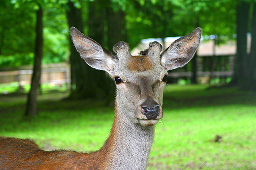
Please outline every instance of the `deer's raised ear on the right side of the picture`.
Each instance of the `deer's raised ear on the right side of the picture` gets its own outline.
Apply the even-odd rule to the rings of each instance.
[[[202,30],[196,28],[188,35],[174,41],[160,56],[160,63],[165,70],[172,70],[187,64],[200,43]]]

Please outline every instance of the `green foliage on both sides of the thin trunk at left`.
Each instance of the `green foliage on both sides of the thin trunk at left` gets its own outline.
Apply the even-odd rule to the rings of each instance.
[[[51,0],[44,2],[42,63],[63,62],[68,59],[69,28],[62,3]],[[12,0],[0,4],[0,15],[4,16],[0,18],[0,67],[33,63],[36,10],[35,1]]]

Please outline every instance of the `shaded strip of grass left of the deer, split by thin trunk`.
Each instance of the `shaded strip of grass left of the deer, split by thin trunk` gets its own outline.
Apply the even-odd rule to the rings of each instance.
[[[85,110],[97,107],[104,107],[105,100],[83,99],[69,100],[66,99],[68,92],[49,92],[37,95],[38,111],[62,111],[62,110]],[[27,102],[27,94],[25,93],[9,93],[0,94],[0,113],[2,110],[20,110],[25,107]],[[110,105],[112,106],[112,105]],[[20,110],[21,111],[21,110]],[[22,112],[22,111],[21,111]]]

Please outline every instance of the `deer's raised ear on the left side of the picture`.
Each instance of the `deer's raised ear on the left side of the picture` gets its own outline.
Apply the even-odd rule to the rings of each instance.
[[[109,51],[102,48],[95,40],[85,36],[74,27],[70,28],[70,34],[80,57],[88,65],[98,70],[104,70],[109,74],[113,71],[115,59]]]

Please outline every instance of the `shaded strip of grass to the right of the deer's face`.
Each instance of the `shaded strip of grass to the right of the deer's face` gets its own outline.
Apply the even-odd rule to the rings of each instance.
[[[256,106],[256,92],[240,91],[236,87],[193,88],[189,85],[168,89],[164,93],[163,108],[179,109],[192,107],[214,107],[223,105],[253,105]]]

